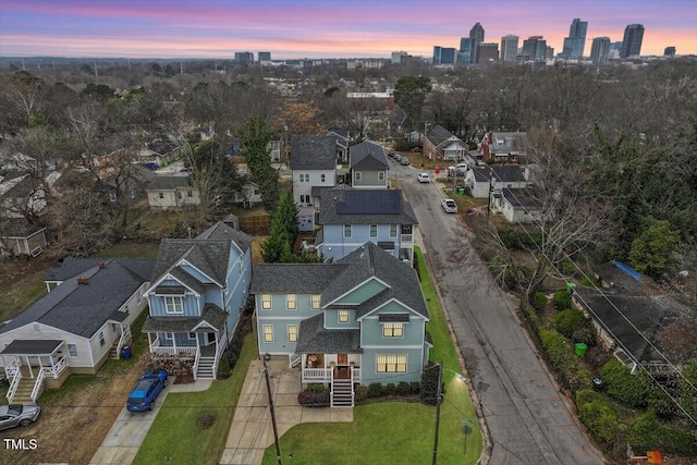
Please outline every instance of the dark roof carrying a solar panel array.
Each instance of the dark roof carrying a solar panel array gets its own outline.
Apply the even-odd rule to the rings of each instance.
[[[321,193],[319,224],[416,224],[399,189],[332,188]]]

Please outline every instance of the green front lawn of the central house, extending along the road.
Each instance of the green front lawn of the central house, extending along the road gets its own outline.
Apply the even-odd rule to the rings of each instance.
[[[421,270],[421,291],[431,316],[427,325],[435,345],[430,358],[442,362],[445,368],[438,463],[474,464],[481,453],[481,433],[467,387],[453,372],[461,371],[457,356],[424,256],[418,247],[415,252]],[[435,420],[436,407],[423,404],[382,402],[359,405],[354,408],[352,424],[293,427],[281,438],[281,454],[284,464],[430,463]],[[463,420],[472,421],[469,435],[462,432]],[[271,445],[266,450],[264,464],[274,463],[276,448]]]

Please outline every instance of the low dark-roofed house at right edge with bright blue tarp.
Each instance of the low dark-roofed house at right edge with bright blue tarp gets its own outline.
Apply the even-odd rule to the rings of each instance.
[[[603,346],[636,372],[641,365],[670,376],[694,356],[697,316],[648,278],[611,261],[594,268],[601,287],[574,287],[574,304],[599,332]],[[667,360],[668,358],[668,360]]]

